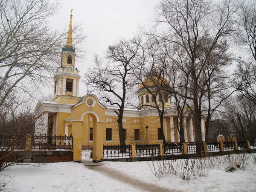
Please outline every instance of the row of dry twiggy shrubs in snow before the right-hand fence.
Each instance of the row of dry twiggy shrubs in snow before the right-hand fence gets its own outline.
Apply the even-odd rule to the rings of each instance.
[[[151,161],[148,162],[148,165],[158,179],[175,175],[182,180],[192,180],[198,177],[207,177],[210,169],[221,169],[227,172],[234,172],[237,169],[244,170],[248,166],[249,157],[248,154],[228,154],[198,159]],[[253,157],[256,162],[255,154]]]

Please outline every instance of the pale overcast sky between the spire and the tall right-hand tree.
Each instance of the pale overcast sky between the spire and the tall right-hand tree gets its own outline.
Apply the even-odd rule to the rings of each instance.
[[[79,96],[87,93],[87,87],[81,80],[87,68],[93,65],[94,54],[103,56],[108,45],[118,38],[132,37],[138,24],[145,25],[153,19],[154,6],[159,2],[160,0],[61,0],[62,7],[51,18],[50,25],[59,30],[68,28],[70,10],[73,8],[73,23],[82,22],[87,36],[86,42],[82,44],[87,55],[84,61],[76,62],[81,76]],[[48,88],[44,96],[50,93],[53,94],[53,89]]]

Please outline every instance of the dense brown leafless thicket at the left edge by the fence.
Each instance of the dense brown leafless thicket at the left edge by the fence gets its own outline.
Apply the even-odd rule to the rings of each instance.
[[[24,149],[27,135],[34,134],[35,116],[29,112],[30,106],[26,104],[26,98],[12,91],[0,106],[0,172],[24,163],[29,157]]]

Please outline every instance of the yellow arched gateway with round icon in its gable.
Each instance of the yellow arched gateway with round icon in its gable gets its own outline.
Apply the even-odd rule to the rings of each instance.
[[[103,122],[105,120],[105,106],[98,98],[88,94],[79,99],[71,107],[73,161],[81,162],[83,118],[89,114],[93,118],[93,162],[101,162],[103,158]]]

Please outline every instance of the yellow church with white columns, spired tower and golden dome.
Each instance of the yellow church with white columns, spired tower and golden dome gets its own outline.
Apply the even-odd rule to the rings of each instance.
[[[94,123],[101,122],[103,127],[103,144],[119,144],[117,115],[118,108],[104,106],[97,96],[87,94],[79,97],[79,83],[81,76],[76,68],[76,50],[72,44],[72,14],[67,36],[67,44],[62,49],[60,67],[54,76],[54,96],[51,101],[39,100],[35,113],[35,134],[47,136],[70,136],[75,133],[76,126],[81,126],[79,137],[81,149],[91,149],[94,142]],[[147,82],[150,83],[150,82]],[[151,95],[141,84],[137,91],[140,104],[150,105]],[[184,127],[186,142],[195,142],[195,126],[190,116],[183,119],[177,117],[177,109],[171,95],[165,99],[164,135],[166,142],[178,143],[180,136],[177,123]],[[86,106],[86,107],[82,107]],[[76,110],[75,110],[76,109]],[[76,117],[79,115],[79,119]],[[101,117],[102,119],[101,119]],[[97,121],[94,121],[96,118]],[[201,119],[202,140],[205,140],[205,122]],[[125,108],[123,116],[123,133],[127,144],[162,143],[160,134],[160,118],[157,109]],[[77,134],[77,132],[76,132]],[[77,136],[77,135],[76,135]]]

